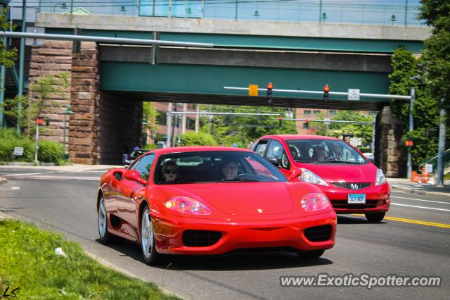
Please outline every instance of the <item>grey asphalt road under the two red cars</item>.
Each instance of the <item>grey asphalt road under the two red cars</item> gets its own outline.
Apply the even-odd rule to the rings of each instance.
[[[49,172],[49,173],[48,173]],[[36,174],[39,173],[39,174]],[[383,223],[338,218],[336,245],[317,260],[294,254],[176,257],[151,267],[131,242],[97,242],[96,188],[103,172],[3,170],[0,211],[63,232],[86,251],[186,299],[448,299],[450,199],[392,192]],[[428,275],[441,287],[281,287],[281,275]]]

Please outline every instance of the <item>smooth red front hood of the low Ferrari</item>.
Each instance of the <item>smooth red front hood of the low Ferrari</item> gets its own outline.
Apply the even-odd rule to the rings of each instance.
[[[271,215],[293,211],[293,199],[284,182],[224,182],[179,186],[229,215]]]

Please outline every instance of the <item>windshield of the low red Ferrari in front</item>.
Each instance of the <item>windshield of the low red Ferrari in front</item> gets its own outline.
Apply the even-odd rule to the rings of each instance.
[[[160,185],[218,182],[285,182],[265,158],[247,151],[197,151],[165,154],[155,165]]]

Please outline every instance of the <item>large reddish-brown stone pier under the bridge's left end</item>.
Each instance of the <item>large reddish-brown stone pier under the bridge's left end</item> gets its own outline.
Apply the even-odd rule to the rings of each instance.
[[[100,63],[94,42],[82,42],[79,53],[72,53],[72,42],[45,41],[32,47],[30,87],[41,76],[68,74],[70,87],[50,94],[41,116],[51,119],[42,138],[61,144],[66,118],[66,153],[72,163],[121,163],[126,147],[141,145],[142,103],[102,92]],[[30,88],[29,96],[33,101],[39,94]],[[69,105],[73,113],[65,115]]]

